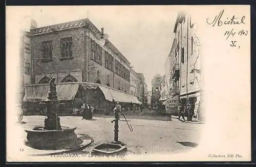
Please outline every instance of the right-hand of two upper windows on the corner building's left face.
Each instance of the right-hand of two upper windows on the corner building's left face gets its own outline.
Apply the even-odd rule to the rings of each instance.
[[[72,57],[72,37],[69,38],[61,38],[61,56],[63,58]]]

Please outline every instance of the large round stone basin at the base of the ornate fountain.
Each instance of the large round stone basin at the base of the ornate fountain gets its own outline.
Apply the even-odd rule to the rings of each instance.
[[[39,150],[61,150],[79,147],[75,130],[77,127],[61,127],[60,130],[44,130],[44,125],[26,129],[27,140],[32,148]]]

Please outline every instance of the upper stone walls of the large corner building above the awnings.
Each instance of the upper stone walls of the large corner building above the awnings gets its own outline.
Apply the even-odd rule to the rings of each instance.
[[[130,93],[130,62],[87,18],[31,30],[32,84],[95,82]]]

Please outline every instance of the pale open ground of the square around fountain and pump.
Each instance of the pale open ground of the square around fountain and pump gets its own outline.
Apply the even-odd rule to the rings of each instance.
[[[132,112],[133,113],[133,112]],[[184,123],[177,118],[151,116],[152,113],[136,111],[125,116],[132,125],[131,132],[124,118],[120,116],[119,141],[126,144],[127,154],[176,153],[195,147],[200,140],[202,124]],[[44,124],[44,116],[25,116],[24,129]],[[82,120],[81,117],[61,116],[61,126],[77,127],[76,134],[87,134],[93,138],[94,143],[83,150],[90,152],[95,145],[114,140],[113,116],[95,115],[93,120]],[[24,132],[26,137],[26,132]]]

